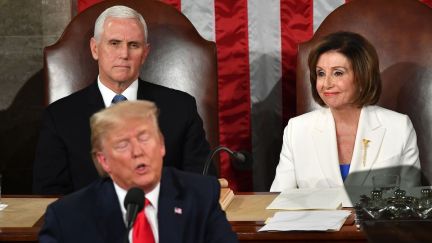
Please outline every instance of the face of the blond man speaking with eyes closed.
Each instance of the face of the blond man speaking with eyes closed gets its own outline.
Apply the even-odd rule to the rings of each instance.
[[[160,181],[165,145],[152,119],[125,118],[103,137],[96,155],[120,187],[149,192]]]

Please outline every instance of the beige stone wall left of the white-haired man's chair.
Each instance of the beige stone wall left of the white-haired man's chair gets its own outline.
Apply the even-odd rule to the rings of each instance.
[[[0,0],[0,110],[42,68],[43,47],[71,19],[71,0]]]

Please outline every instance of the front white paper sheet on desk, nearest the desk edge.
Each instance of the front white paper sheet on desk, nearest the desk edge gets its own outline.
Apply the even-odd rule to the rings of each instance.
[[[277,212],[259,231],[339,231],[350,214],[348,210]]]

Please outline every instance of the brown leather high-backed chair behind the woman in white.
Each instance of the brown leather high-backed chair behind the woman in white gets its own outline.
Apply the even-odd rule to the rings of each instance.
[[[366,37],[380,59],[378,105],[407,114],[417,132],[424,184],[432,182],[432,9],[417,0],[354,0],[332,12],[313,38],[299,46],[297,114],[317,107],[307,58],[317,40],[335,31]]]

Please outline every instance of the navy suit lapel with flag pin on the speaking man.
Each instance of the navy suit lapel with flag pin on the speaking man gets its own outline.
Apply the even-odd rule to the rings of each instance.
[[[159,242],[182,242],[188,209],[184,205],[183,185],[171,169],[165,168],[159,194]]]

